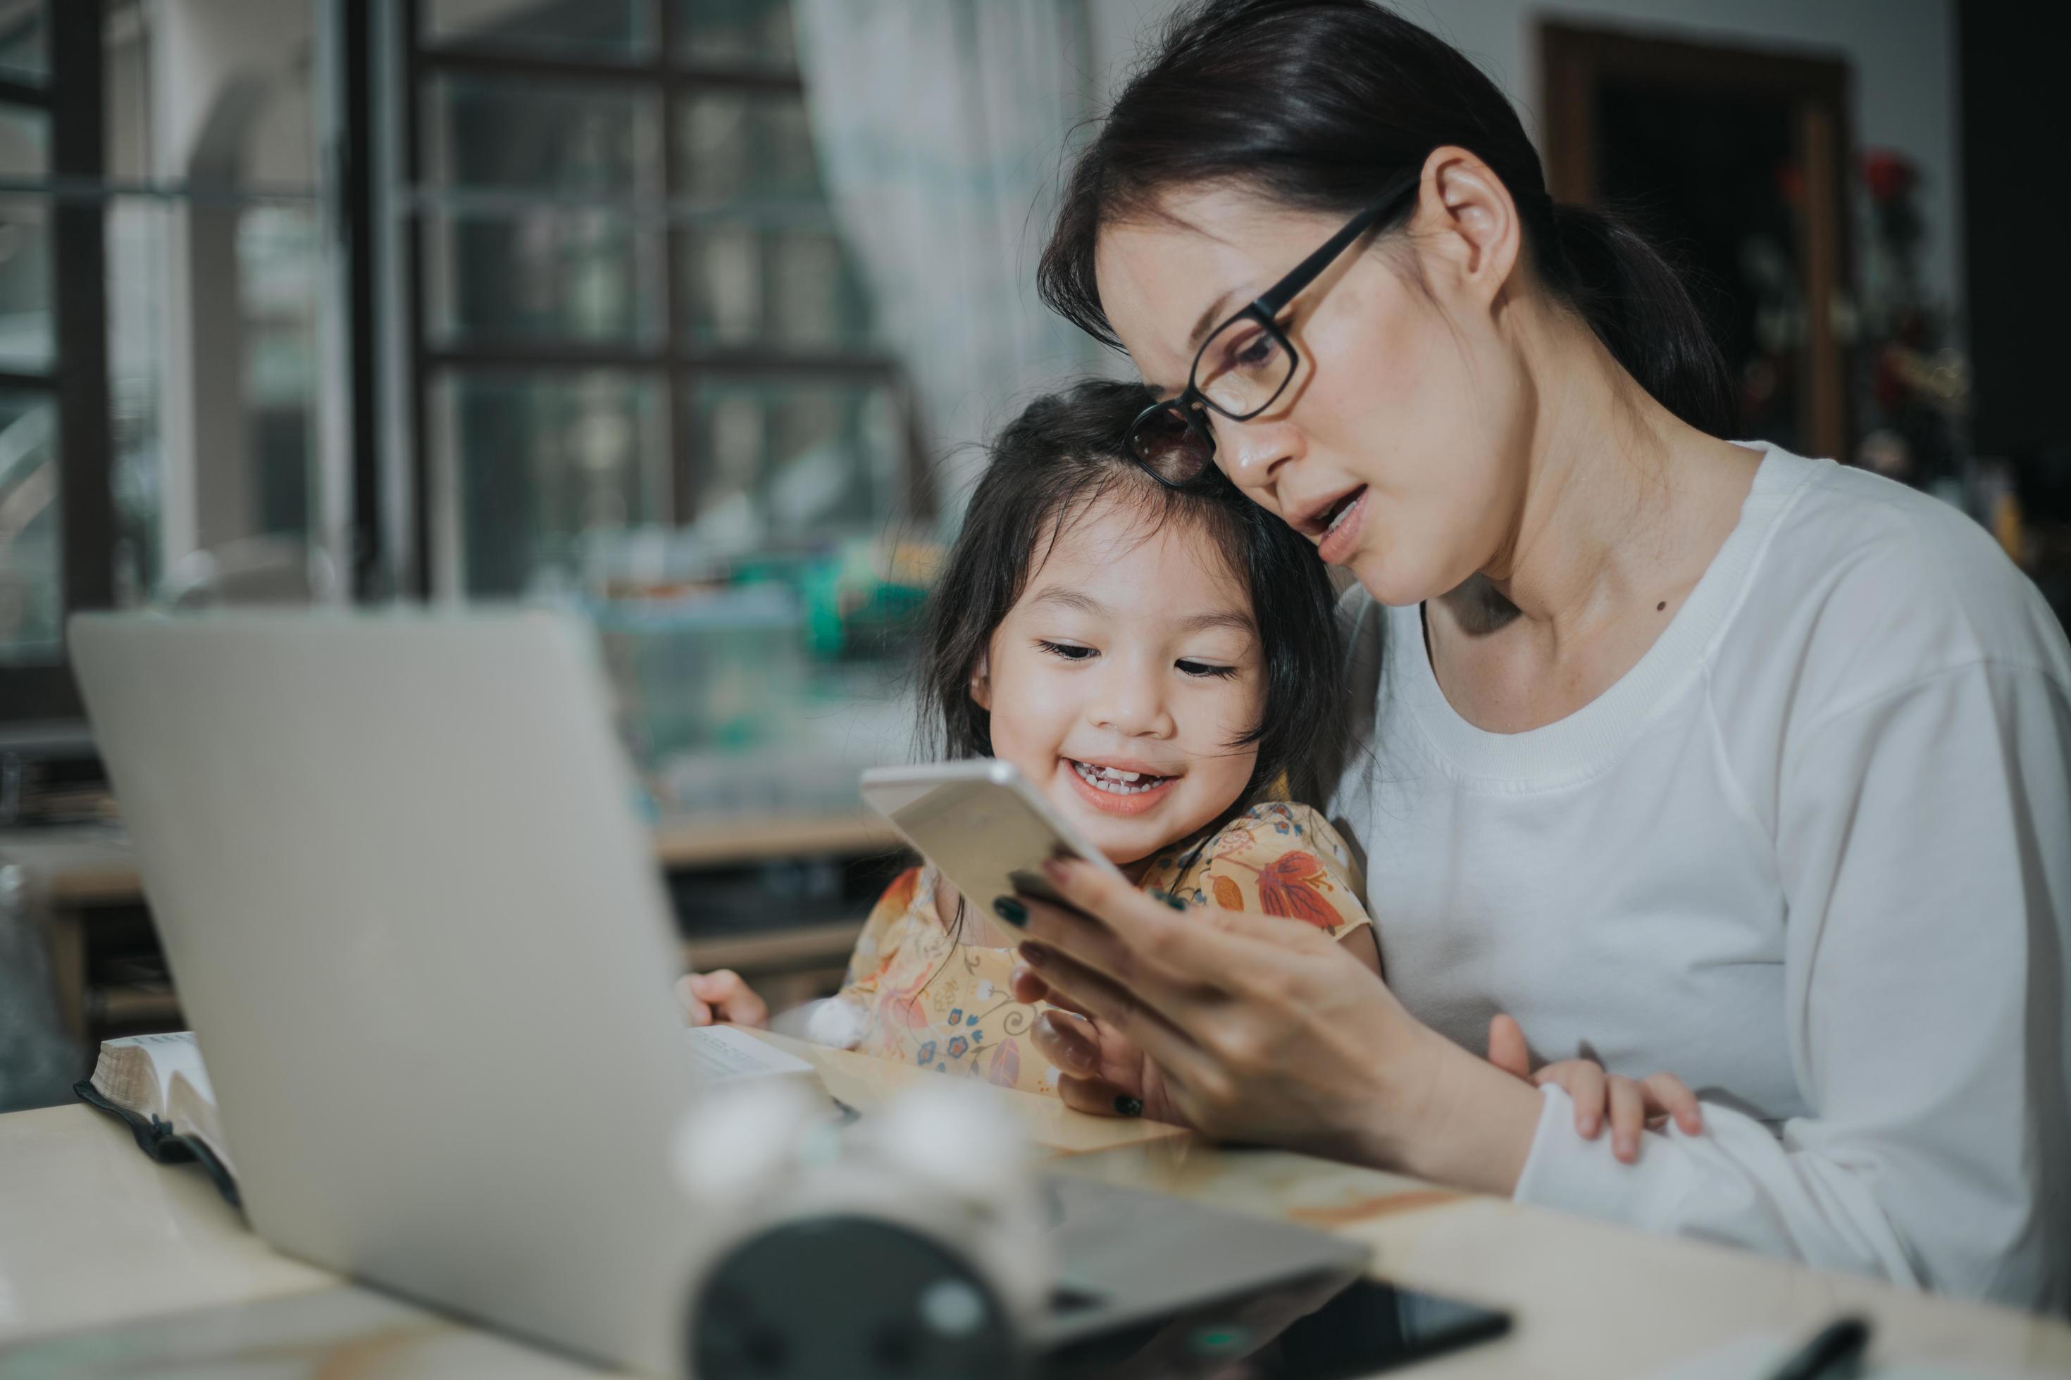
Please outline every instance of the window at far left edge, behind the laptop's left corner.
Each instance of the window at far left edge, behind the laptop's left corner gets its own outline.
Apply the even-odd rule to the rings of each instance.
[[[0,0],[0,720],[72,610],[338,588],[321,10]]]

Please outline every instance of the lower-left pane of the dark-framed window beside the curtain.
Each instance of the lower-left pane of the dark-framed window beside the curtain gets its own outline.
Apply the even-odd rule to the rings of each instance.
[[[470,596],[567,588],[584,538],[667,519],[661,381],[617,370],[449,372],[433,445],[458,476]]]

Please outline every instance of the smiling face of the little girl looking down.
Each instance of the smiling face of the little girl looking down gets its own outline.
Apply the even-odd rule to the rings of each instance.
[[[1257,747],[1232,747],[1265,708],[1251,598],[1205,532],[1147,530],[1131,501],[1104,499],[1029,573],[971,697],[994,755],[1108,861],[1135,863],[1251,780]]]

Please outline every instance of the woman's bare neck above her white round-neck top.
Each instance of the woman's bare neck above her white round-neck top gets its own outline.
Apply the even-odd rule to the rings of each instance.
[[[1568,312],[1539,312],[1518,348],[1530,434],[1514,515],[1429,631],[1448,699],[1495,732],[1572,714],[1644,656],[1760,463],[1678,420]]]

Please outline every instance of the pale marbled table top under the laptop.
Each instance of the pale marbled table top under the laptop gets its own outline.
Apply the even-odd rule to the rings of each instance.
[[[932,1076],[787,1047],[866,1111]],[[1379,1277],[1516,1314],[1508,1339],[1419,1376],[1649,1376],[1752,1332],[1810,1332],[1843,1310],[1874,1320],[1876,1359],[2071,1374],[2063,1322],[988,1094],[1067,1173],[1323,1227],[1371,1246]],[[110,1374],[116,1361],[124,1376],[215,1374],[261,1359],[267,1374],[300,1376],[594,1374],[273,1254],[199,1169],[149,1163],[87,1107],[0,1117],[0,1376]]]

